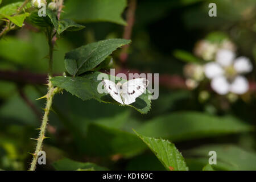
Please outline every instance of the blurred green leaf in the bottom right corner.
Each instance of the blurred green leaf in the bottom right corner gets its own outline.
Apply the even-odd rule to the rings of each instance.
[[[256,153],[246,151],[231,144],[216,144],[194,148],[185,151],[186,156],[196,156],[194,158],[199,163],[205,165],[209,160],[209,151],[216,151],[217,164],[213,165],[217,170],[238,170],[255,171]]]

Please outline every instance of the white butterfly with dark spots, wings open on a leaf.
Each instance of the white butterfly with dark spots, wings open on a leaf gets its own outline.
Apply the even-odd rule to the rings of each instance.
[[[148,80],[146,78],[135,78],[115,84],[110,80],[102,80],[105,90],[114,98],[115,101],[129,105],[136,101],[136,98],[141,96],[146,90]]]

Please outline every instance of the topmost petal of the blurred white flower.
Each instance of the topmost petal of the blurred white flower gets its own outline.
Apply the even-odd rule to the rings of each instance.
[[[216,53],[216,61],[221,64],[223,67],[228,67],[233,63],[234,58],[236,57],[233,51],[228,49],[220,49]]]

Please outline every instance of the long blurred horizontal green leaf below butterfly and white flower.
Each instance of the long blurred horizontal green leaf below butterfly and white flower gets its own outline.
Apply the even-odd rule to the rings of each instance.
[[[178,111],[163,115],[151,119],[137,129],[148,137],[163,137],[175,142],[251,130],[251,126],[237,118],[216,117],[196,111]]]

